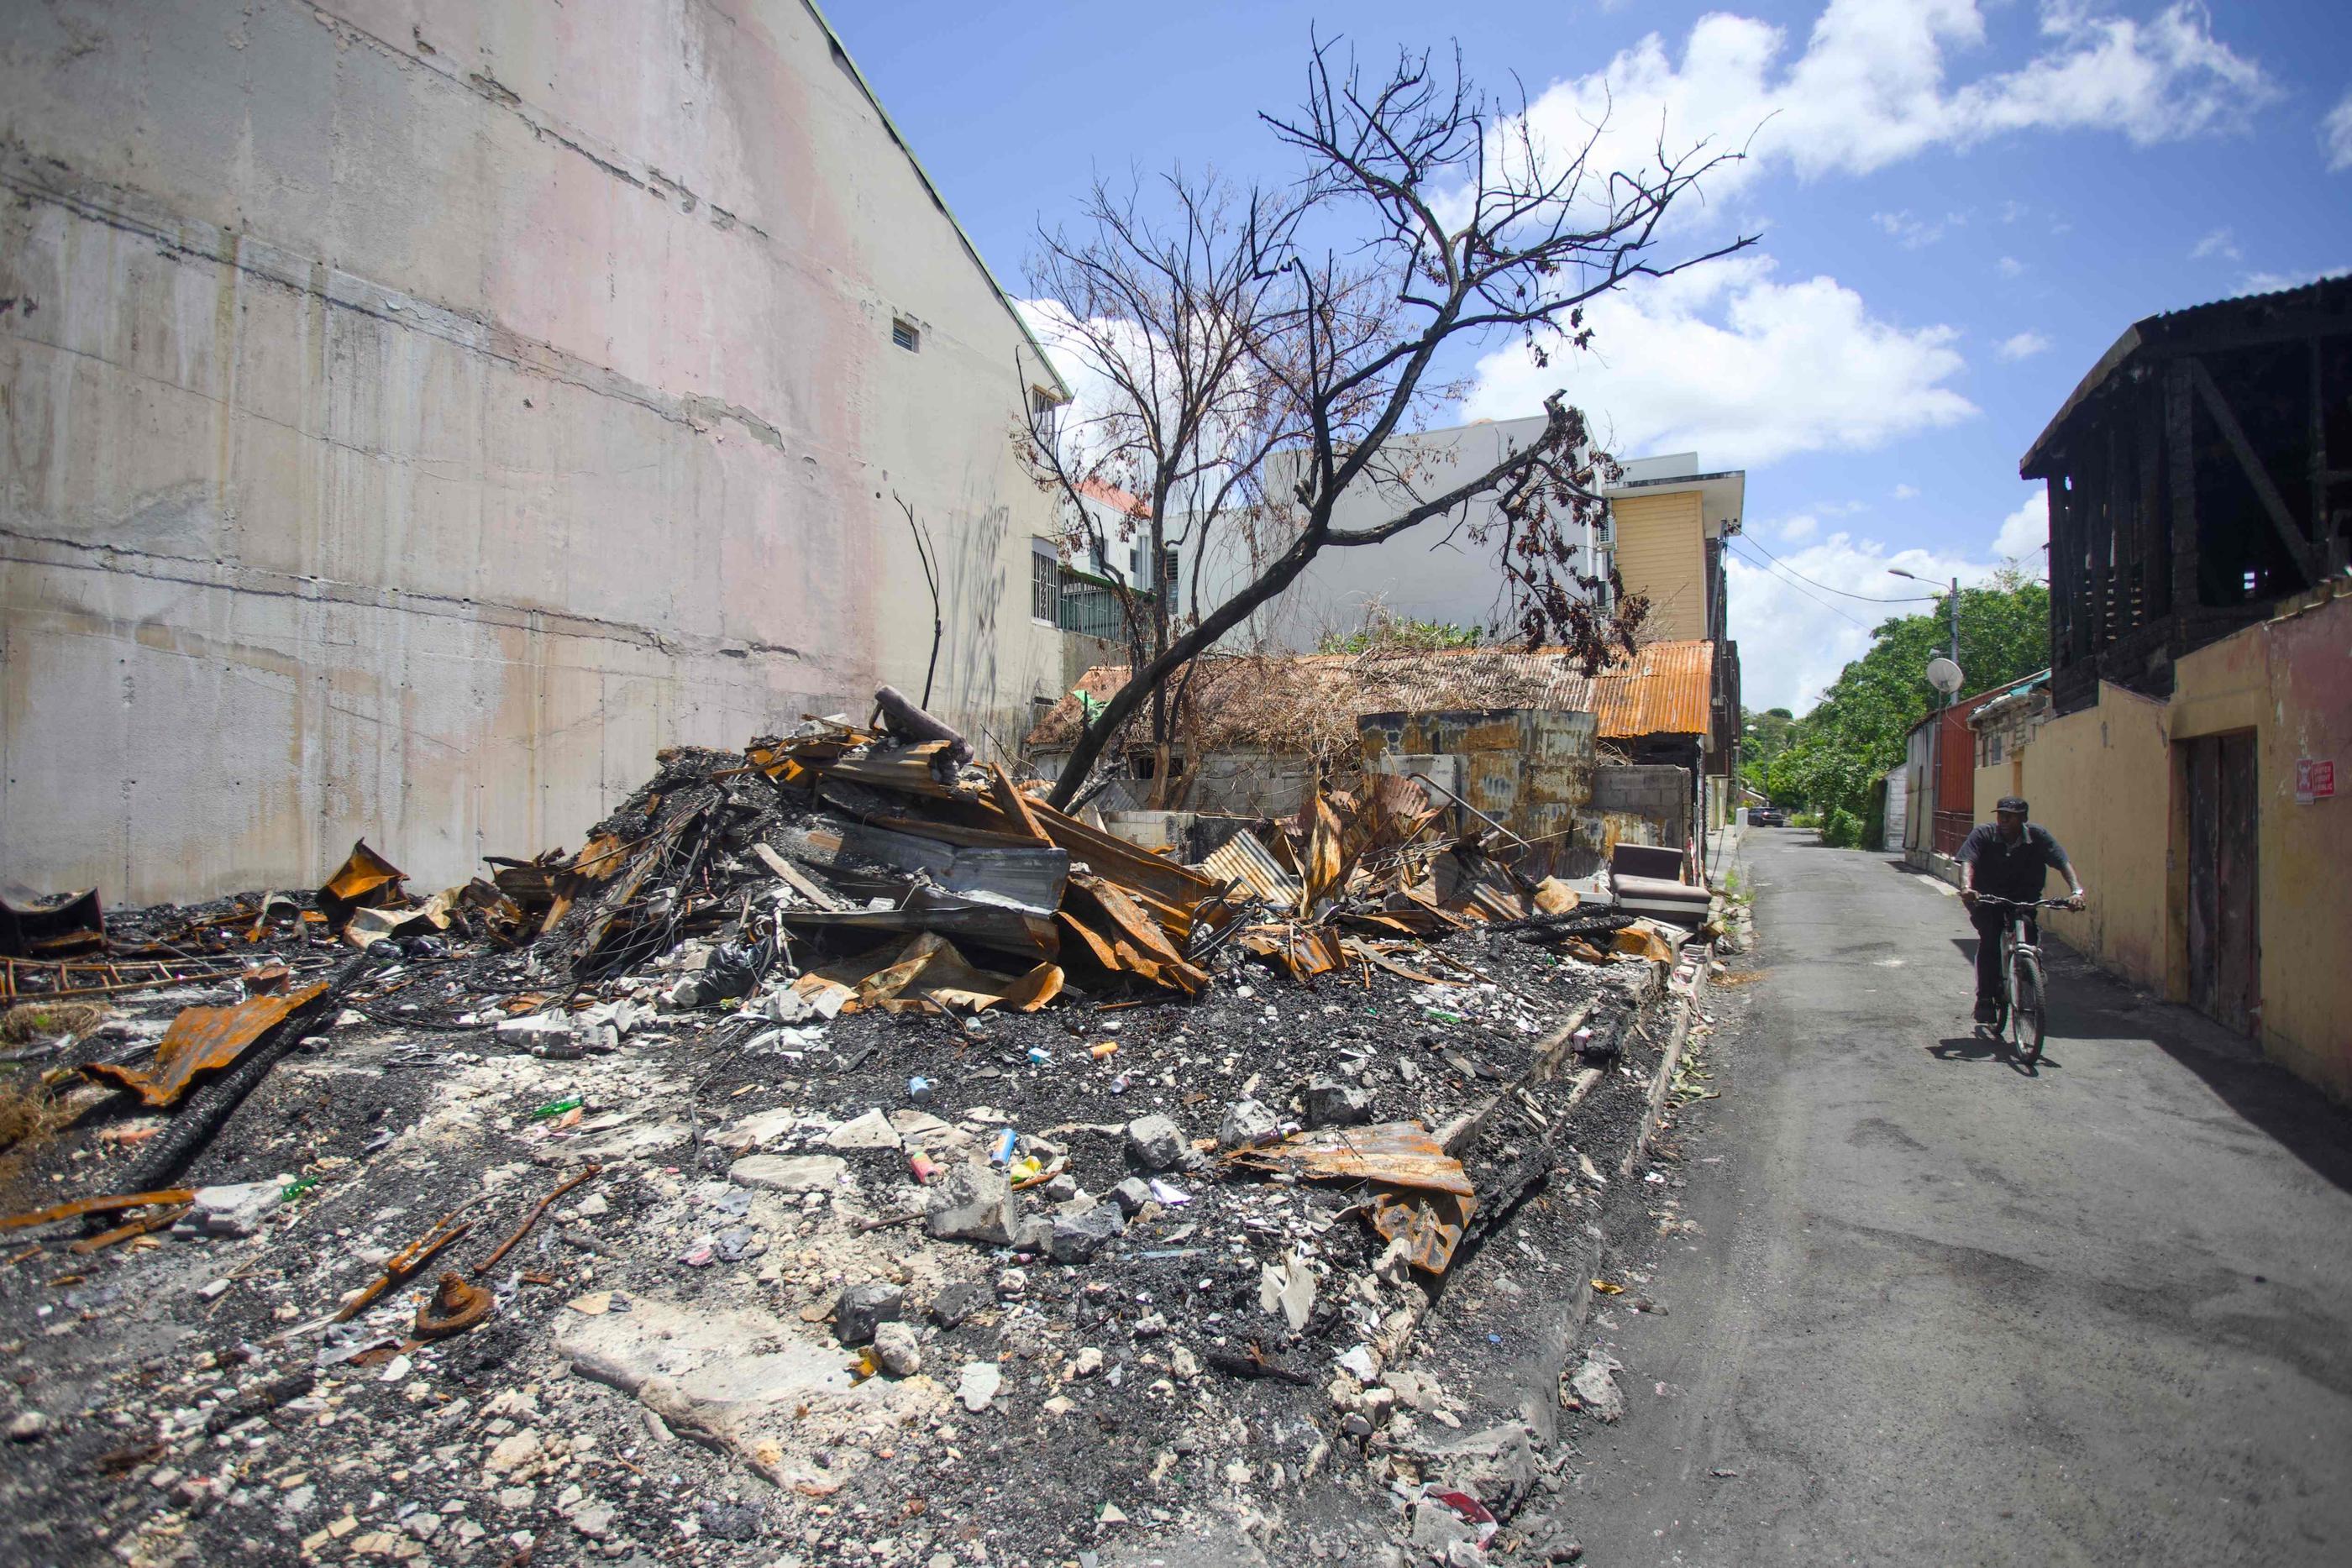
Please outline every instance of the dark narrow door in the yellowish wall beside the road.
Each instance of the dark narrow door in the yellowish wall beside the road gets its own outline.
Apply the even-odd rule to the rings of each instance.
[[[2263,940],[2253,731],[2187,743],[2190,1006],[2253,1034],[2263,1009]]]

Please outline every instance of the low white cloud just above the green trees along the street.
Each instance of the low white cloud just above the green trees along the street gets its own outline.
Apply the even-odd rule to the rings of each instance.
[[[1726,609],[1731,635],[1740,644],[1743,701],[1748,708],[1804,712],[1849,661],[1870,649],[1875,625],[1938,609],[1926,602],[1926,583],[1889,576],[1889,567],[1917,571],[1929,583],[1955,576],[1980,583],[2016,559],[2027,576],[2042,576],[2046,505],[2046,491],[2034,487],[2002,520],[1990,545],[1992,559],[1971,559],[1973,550],[1889,550],[1875,538],[1830,534],[1802,550],[1773,550],[1780,557],[1773,564],[1755,541],[1736,538],[1724,552],[1724,571],[1731,578]]]

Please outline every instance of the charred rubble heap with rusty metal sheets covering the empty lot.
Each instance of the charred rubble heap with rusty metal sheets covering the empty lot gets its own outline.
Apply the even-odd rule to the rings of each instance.
[[[24,1561],[1545,1561],[1698,945],[1409,780],[1183,865],[882,712],[430,898],[12,891]]]

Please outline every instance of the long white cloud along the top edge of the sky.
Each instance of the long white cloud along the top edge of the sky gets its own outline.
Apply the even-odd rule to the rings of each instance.
[[[1651,33],[1548,87],[1529,125],[1552,148],[1581,148],[1602,127],[1597,172],[1653,167],[1661,139],[1668,153],[1745,148],[1748,162],[1710,179],[1724,195],[1766,169],[1870,174],[2011,132],[2103,129],[2152,146],[2237,129],[2274,96],[2194,0],[2147,21],[2042,0],[2039,31],[2039,54],[2020,66],[1952,82],[1947,56],[1985,45],[1978,0],[1830,0],[1795,59],[1783,28],[1710,12],[1679,59]]]

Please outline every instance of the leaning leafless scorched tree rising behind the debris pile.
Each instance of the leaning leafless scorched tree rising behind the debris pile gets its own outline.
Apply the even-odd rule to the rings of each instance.
[[[1675,200],[1736,153],[1661,146],[1653,169],[1597,169],[1597,127],[1545,148],[1524,99],[1498,108],[1458,59],[1399,54],[1371,80],[1315,42],[1301,113],[1261,118],[1303,158],[1296,183],[1237,190],[1178,172],[1150,186],[1157,207],[1098,183],[1084,233],[1044,233],[1030,266],[1035,294],[1063,310],[1047,341],[1103,404],[1033,409],[1025,454],[1065,501],[1070,545],[1141,536],[1152,578],[1150,599],[1117,590],[1134,663],[1080,733],[1056,806],[1145,703],[1164,748],[1169,682],[1324,550],[1465,531],[1496,550],[1529,644],[1566,644],[1588,672],[1630,651],[1642,604],[1595,604],[1602,583],[1573,569],[1571,536],[1616,475],[1578,409],[1552,395],[1534,440],[1442,487],[1411,437],[1461,395],[1444,367],[1468,353],[1505,336],[1538,362],[1583,350],[1590,299],[1755,242],[1653,261]],[[1084,503],[1096,484],[1141,505],[1105,524]],[[1388,515],[1336,527],[1350,489],[1392,501]],[[1190,557],[1183,616],[1160,581],[1171,545]],[[1211,557],[1240,564],[1240,581],[1207,607]]]

